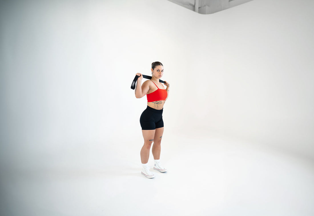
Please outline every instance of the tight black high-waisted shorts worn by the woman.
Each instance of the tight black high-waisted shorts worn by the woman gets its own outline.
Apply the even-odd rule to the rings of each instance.
[[[142,130],[155,130],[156,128],[162,128],[164,126],[164,121],[162,120],[162,110],[163,108],[158,110],[147,106],[139,119]]]

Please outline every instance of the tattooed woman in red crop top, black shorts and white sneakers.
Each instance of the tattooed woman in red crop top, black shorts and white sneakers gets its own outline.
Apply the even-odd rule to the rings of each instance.
[[[160,143],[162,134],[164,133],[164,122],[162,120],[162,111],[169,96],[170,84],[165,81],[167,88],[159,82],[164,74],[164,67],[160,62],[152,63],[152,78],[142,85],[143,76],[140,73],[135,88],[135,97],[141,98],[147,95],[147,108],[141,115],[140,123],[144,138],[144,145],[141,149],[141,161],[143,165],[142,174],[147,178],[154,178],[154,174],[149,171],[148,158],[150,147],[154,141],[152,153],[154,156],[154,169],[160,172],[166,172],[160,164]]]

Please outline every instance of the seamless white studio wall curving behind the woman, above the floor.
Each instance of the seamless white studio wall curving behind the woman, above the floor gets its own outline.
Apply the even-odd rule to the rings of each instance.
[[[311,4],[205,16],[169,1],[2,2],[3,158],[140,134],[146,102],[130,85],[153,61],[172,85],[169,132],[313,158]]]

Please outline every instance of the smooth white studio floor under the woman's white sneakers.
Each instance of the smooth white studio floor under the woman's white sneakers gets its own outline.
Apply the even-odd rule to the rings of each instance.
[[[314,215],[313,161],[173,136],[162,143],[168,172],[151,169],[155,178],[148,179],[141,174],[140,138],[73,149],[55,166],[2,170],[1,215]]]

